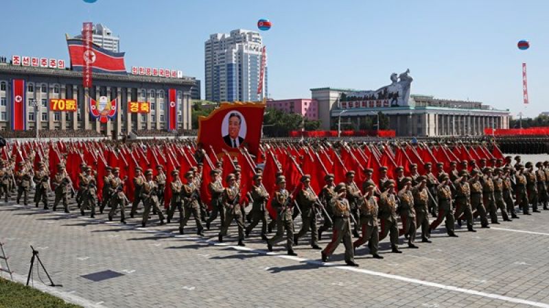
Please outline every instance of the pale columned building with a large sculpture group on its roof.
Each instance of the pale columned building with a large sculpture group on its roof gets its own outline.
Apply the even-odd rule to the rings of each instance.
[[[412,78],[408,73],[393,73],[392,84],[376,91],[312,88],[321,128],[338,129],[341,122],[351,123],[358,130],[367,117],[376,123],[379,112],[388,117],[389,129],[402,137],[482,135],[484,128],[509,128],[509,110],[480,102],[410,95]]]

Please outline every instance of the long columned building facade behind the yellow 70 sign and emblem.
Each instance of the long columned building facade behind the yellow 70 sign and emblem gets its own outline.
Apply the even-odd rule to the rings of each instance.
[[[12,80],[25,81],[25,127],[40,130],[96,130],[104,136],[120,136],[134,130],[167,129],[168,91],[176,91],[177,128],[191,129],[191,87],[194,78],[161,78],[141,75],[114,75],[93,73],[93,86],[82,87],[82,72],[69,69],[22,67],[0,63],[0,130],[10,130],[12,106]],[[113,119],[101,123],[90,115],[86,96],[100,102],[117,99],[117,112]],[[51,99],[75,99],[77,110],[51,110]],[[36,114],[32,102],[39,104]],[[132,113],[129,102],[148,102],[150,112]]]

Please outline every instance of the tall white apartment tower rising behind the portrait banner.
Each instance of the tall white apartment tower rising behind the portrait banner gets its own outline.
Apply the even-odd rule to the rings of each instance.
[[[211,34],[205,43],[206,99],[259,102],[268,97],[267,64],[261,93],[257,93],[262,51],[259,32],[236,29],[231,34]]]

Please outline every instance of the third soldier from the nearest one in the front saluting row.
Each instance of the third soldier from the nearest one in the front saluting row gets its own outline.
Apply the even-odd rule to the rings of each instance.
[[[397,226],[397,197],[395,196],[395,181],[385,182],[384,192],[379,198],[379,241],[390,233],[390,246],[393,252],[402,253],[399,248],[399,228]]]

